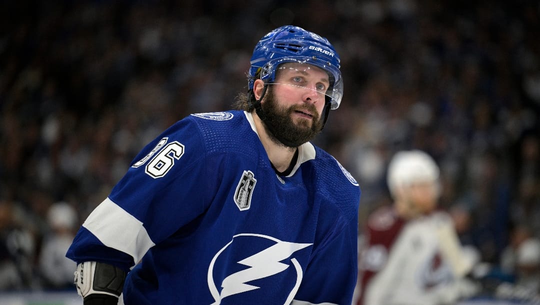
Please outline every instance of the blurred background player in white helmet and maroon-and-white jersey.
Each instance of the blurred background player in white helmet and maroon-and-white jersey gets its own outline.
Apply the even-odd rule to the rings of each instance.
[[[477,257],[437,211],[439,168],[422,151],[394,155],[387,173],[394,199],[369,216],[360,260],[358,305],[455,304],[478,287],[465,279]]]

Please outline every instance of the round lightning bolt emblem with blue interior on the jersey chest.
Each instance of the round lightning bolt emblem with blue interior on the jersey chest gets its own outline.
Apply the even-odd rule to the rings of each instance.
[[[225,297],[257,289],[264,290],[265,284],[273,283],[275,287],[276,281],[279,281],[281,287],[290,287],[287,299],[283,300],[284,304],[290,304],[300,287],[303,272],[298,260],[289,257],[311,245],[313,244],[282,241],[261,234],[234,235],[233,239],[214,255],[208,266],[208,289],[214,299],[212,305],[220,304]],[[228,267],[218,267],[225,265]],[[286,269],[291,266],[294,267],[295,276],[291,276],[290,271],[288,276],[285,276]],[[217,284],[220,284],[221,290]],[[261,295],[269,293],[261,292]]]

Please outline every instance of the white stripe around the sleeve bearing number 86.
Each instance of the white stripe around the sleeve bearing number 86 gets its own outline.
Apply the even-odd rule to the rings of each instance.
[[[131,255],[136,264],[155,245],[143,223],[108,197],[90,213],[83,227],[105,246]]]

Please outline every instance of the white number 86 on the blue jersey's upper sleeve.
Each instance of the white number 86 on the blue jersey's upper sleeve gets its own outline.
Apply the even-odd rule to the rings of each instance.
[[[133,167],[139,167],[150,159],[154,153],[156,153],[159,148],[165,145],[167,139],[163,138],[159,141],[156,148],[154,148],[146,157],[133,165]],[[161,150],[156,157],[152,158],[149,164],[146,165],[144,172],[150,177],[156,179],[161,178],[171,170],[174,165],[174,160],[179,160],[184,154],[184,145],[180,144],[178,141],[171,142],[167,144],[163,150]]]

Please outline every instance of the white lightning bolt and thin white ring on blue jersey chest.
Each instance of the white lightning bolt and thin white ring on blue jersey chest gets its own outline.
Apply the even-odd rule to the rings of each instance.
[[[259,253],[256,253],[252,256],[246,257],[245,259],[241,261],[238,261],[238,263],[245,266],[249,266],[250,268],[241,270],[237,273],[233,273],[225,277],[225,279],[221,283],[221,287],[223,289],[221,290],[221,293],[219,293],[218,289],[215,286],[215,283],[213,281],[213,276],[212,276],[214,263],[217,260],[218,256],[228,246],[230,246],[234,238],[238,236],[256,236],[256,237],[273,240],[276,243],[272,245],[271,247],[268,247],[262,250]],[[238,235],[233,236],[233,240],[227,243],[225,247],[221,248],[221,250],[219,250],[219,252],[215,254],[208,268],[208,287],[210,288],[210,292],[212,296],[214,297],[214,301],[215,301],[212,305],[218,305],[221,299],[224,299],[227,296],[244,293],[250,290],[260,288],[257,286],[246,284],[246,282],[262,279],[263,277],[268,277],[268,276],[272,276],[274,274],[283,272],[285,269],[289,267],[289,265],[287,265],[286,263],[281,263],[280,261],[287,259],[294,252],[300,249],[313,245],[312,243],[295,243],[295,242],[281,241],[279,239],[272,238],[271,236],[260,235],[260,234],[238,234]],[[296,293],[296,289],[298,289],[298,287],[300,286],[300,281],[302,279],[302,269],[298,261],[296,261],[296,259],[293,258],[291,259],[291,261],[297,273],[296,285],[293,288],[293,291],[291,292],[291,294],[289,295],[289,299],[291,299],[292,301],[292,297]],[[291,301],[288,300],[286,304],[290,303]]]

